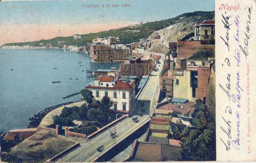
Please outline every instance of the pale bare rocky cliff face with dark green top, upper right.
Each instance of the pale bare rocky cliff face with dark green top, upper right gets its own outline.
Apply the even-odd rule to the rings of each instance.
[[[160,34],[160,39],[151,39],[151,48],[149,51],[165,52],[168,49],[169,42],[175,42],[178,39],[182,39],[188,34],[194,32],[195,23],[201,23],[204,20],[214,19],[214,12],[196,11],[193,13],[185,13],[179,15],[173,25],[166,28],[155,31],[151,34]]]

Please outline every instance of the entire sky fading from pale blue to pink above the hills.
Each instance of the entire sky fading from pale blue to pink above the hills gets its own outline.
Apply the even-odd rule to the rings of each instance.
[[[102,7],[124,3],[130,7]],[[84,8],[83,4],[100,7]],[[213,10],[214,0],[2,0],[0,44],[105,31],[186,12]]]

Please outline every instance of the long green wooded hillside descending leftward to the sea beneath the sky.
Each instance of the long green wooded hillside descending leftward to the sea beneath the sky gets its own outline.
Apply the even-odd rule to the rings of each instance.
[[[166,27],[167,27],[166,29],[170,28],[170,30],[173,31],[172,32],[173,34],[171,34],[170,37],[167,37],[166,39],[167,41],[167,40],[175,39],[175,38],[172,38],[172,36],[177,33],[178,33],[178,36],[183,36],[184,34],[190,33],[192,31],[192,25],[196,21],[201,22],[206,19],[212,19],[213,16],[214,16],[214,11],[195,11],[195,12],[181,14],[177,17],[173,17],[166,20],[144,23],[135,29],[135,30],[140,30],[140,32],[137,32],[137,33],[124,32],[126,30],[134,30],[128,27],[124,27],[124,28],[113,29],[109,31],[82,34],[80,40],[74,40],[73,36],[69,36],[69,37],[55,37],[49,40],[31,41],[31,42],[24,42],[24,43],[6,43],[5,45],[40,46],[39,45],[40,43],[43,43],[44,45],[46,45],[47,43],[51,43],[53,46],[56,46],[56,47],[57,46],[62,47],[64,44],[67,44],[67,45],[77,44],[79,46],[83,46],[83,45],[87,45],[87,43],[90,43],[95,37],[109,37],[109,36],[119,37],[120,43],[132,43],[132,42],[139,41],[141,38],[147,38],[154,31],[158,31]],[[63,41],[64,43],[58,44],[58,41],[59,42]]]

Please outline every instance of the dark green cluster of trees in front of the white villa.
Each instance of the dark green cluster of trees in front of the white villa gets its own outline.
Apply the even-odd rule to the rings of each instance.
[[[110,122],[111,114],[109,109],[113,102],[106,96],[101,101],[95,101],[92,92],[88,89],[81,90],[81,94],[87,103],[81,107],[65,107],[60,115],[53,117],[53,121],[59,126],[75,126],[73,120],[82,121],[81,126],[70,131],[91,134],[97,130],[97,127],[105,126]]]

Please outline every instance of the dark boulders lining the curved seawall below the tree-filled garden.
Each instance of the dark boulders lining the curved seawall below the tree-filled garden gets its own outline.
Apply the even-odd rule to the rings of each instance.
[[[33,117],[29,118],[29,125],[27,128],[33,128],[33,127],[39,126],[39,124],[41,123],[41,120],[44,118],[44,116],[47,113],[51,112],[52,110],[57,109],[58,107],[61,107],[61,106],[68,105],[70,103],[76,103],[76,102],[80,102],[80,101],[81,100],[69,101],[69,102],[61,103],[61,104],[58,104],[55,106],[50,106],[48,108],[41,110],[40,112],[36,113]]]

